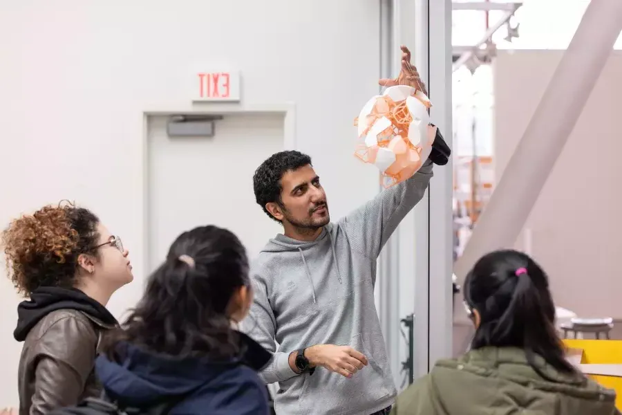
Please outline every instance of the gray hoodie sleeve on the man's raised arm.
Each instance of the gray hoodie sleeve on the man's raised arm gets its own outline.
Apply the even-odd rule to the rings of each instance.
[[[377,259],[399,222],[424,196],[432,176],[432,162],[428,159],[411,178],[383,190],[341,219],[339,223],[352,248],[369,259]]]

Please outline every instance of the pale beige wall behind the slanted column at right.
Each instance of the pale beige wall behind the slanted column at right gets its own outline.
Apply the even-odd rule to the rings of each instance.
[[[493,66],[496,178],[563,53],[499,51]],[[581,317],[622,317],[621,73],[622,53],[614,50],[594,91],[576,91],[587,100],[585,108],[523,228],[531,230],[531,253],[549,274],[557,305]],[[525,247],[522,234],[517,247]]]

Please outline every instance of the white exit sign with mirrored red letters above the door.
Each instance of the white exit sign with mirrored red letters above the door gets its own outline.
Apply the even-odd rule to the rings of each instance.
[[[193,101],[239,101],[240,73],[208,71],[194,74]]]

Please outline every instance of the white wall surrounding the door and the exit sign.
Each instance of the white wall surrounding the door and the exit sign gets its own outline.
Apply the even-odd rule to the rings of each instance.
[[[337,219],[378,190],[375,169],[352,156],[352,121],[377,92],[378,9],[375,0],[0,0],[0,223],[60,199],[92,208],[135,264],[111,310],[135,304],[146,247],[142,113],[199,107],[185,86],[201,62],[238,68],[243,104],[295,103],[296,145],[314,157]],[[1,277],[0,406],[18,401],[18,301]]]

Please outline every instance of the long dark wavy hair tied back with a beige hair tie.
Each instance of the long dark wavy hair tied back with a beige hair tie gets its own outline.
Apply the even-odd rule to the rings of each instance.
[[[182,233],[124,326],[104,338],[104,353],[122,359],[122,345],[131,343],[178,358],[235,356],[238,335],[227,306],[249,287],[248,272],[246,250],[232,232],[201,226]]]

